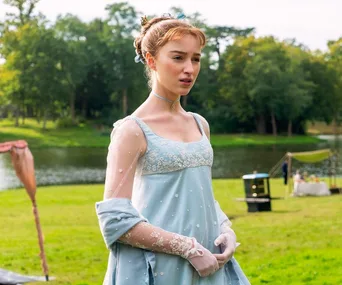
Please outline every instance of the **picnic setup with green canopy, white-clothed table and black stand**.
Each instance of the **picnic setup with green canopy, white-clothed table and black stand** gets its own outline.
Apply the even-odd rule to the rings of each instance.
[[[328,180],[320,180],[316,175],[308,176],[299,170],[293,173],[293,160],[301,163],[314,164],[328,160]],[[284,197],[272,197],[270,179],[276,177],[280,169],[286,167],[286,185]],[[331,149],[322,149],[306,152],[287,152],[270,170],[269,173],[252,173],[242,176],[245,190],[245,198],[237,198],[236,201],[246,202],[248,212],[271,211],[271,201],[302,196],[328,196],[341,194],[342,188],[337,186],[336,176],[338,168],[338,154]],[[288,175],[289,173],[289,175]],[[288,178],[287,178],[288,176]]]

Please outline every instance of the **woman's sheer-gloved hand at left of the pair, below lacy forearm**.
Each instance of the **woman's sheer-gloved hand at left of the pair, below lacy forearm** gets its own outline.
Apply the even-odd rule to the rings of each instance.
[[[214,254],[199,244],[195,238],[192,238],[192,241],[193,246],[183,257],[191,263],[199,276],[206,277],[215,273],[219,269],[219,264]]]

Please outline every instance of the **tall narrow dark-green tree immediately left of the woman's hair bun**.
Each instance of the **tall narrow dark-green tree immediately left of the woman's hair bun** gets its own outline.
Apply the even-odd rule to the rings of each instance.
[[[103,66],[107,74],[109,92],[114,101],[121,101],[122,115],[126,116],[130,101],[141,98],[146,90],[143,66],[134,62],[133,36],[139,28],[138,13],[126,2],[107,5],[108,17],[103,32],[107,52]],[[138,100],[136,100],[138,101]],[[133,104],[131,104],[133,105]]]

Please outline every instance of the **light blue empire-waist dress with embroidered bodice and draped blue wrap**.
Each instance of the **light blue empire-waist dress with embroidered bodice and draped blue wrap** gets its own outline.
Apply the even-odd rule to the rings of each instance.
[[[250,284],[234,258],[203,278],[182,257],[117,242],[135,224],[148,221],[164,230],[195,237],[212,253],[220,253],[214,240],[227,217],[212,192],[212,147],[199,117],[193,116],[202,138],[190,143],[162,138],[141,119],[125,118],[140,126],[147,150],[138,161],[132,201],[114,198],[96,203],[100,228],[110,249],[105,285]]]

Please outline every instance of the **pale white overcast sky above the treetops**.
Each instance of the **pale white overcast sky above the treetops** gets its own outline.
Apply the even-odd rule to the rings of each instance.
[[[113,0],[41,0],[37,10],[51,21],[72,13],[84,21],[106,16]],[[209,25],[255,27],[257,36],[296,38],[311,50],[327,49],[342,37],[342,0],[127,0],[143,14],[163,14],[172,6],[185,14],[199,12]],[[0,0],[0,21],[10,9]]]

